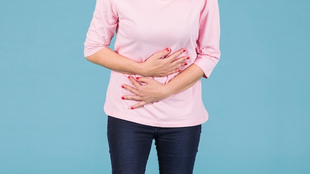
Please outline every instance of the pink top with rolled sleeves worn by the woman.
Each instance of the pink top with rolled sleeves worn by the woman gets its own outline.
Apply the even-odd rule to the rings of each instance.
[[[181,56],[191,57],[186,61],[188,66],[198,65],[209,77],[220,57],[217,0],[97,0],[85,41],[85,57],[109,45],[115,31],[115,52],[136,62],[144,62],[166,47],[171,53],[185,48]],[[166,84],[177,75],[154,79]],[[137,101],[121,99],[132,95],[121,87],[123,84],[131,85],[128,74],[111,71],[104,104],[109,116],[171,128],[196,126],[208,119],[200,80],[180,93],[134,110],[130,106]]]

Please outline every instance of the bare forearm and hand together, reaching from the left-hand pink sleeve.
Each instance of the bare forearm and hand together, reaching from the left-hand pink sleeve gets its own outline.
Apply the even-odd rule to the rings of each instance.
[[[95,64],[120,73],[135,74],[143,77],[164,77],[180,72],[181,70],[179,68],[187,65],[185,60],[189,59],[189,56],[179,57],[185,52],[185,49],[180,49],[165,57],[170,52],[171,49],[166,48],[154,53],[143,63],[138,63],[114,52],[108,47],[104,47],[86,58]]]

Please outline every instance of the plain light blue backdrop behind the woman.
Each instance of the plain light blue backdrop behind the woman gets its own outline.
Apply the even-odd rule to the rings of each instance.
[[[110,173],[109,70],[83,57],[95,2],[1,0],[1,174]],[[194,174],[310,174],[310,1],[219,5]],[[154,147],[146,174],[158,174]]]

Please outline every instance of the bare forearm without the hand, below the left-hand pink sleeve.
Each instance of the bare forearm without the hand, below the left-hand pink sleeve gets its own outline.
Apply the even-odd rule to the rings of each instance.
[[[86,57],[86,59],[120,73],[143,75],[140,63],[124,57],[108,47],[104,47],[95,54]]]

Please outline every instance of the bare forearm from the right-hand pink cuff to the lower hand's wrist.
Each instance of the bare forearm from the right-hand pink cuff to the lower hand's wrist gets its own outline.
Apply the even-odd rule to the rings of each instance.
[[[169,95],[182,92],[196,84],[204,76],[203,70],[192,64],[165,85]]]

